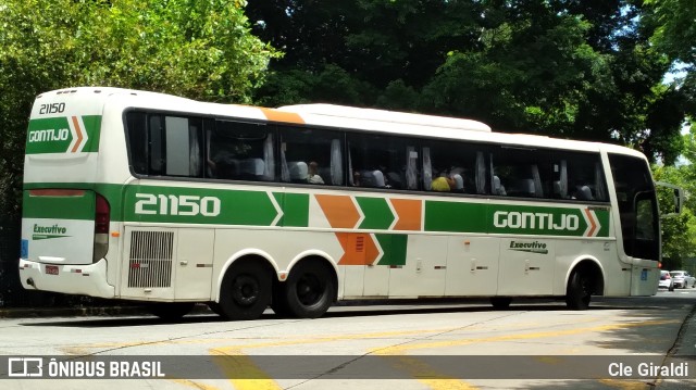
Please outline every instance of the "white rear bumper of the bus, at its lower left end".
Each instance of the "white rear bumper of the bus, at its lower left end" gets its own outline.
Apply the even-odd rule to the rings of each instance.
[[[107,282],[107,261],[94,264],[48,264],[20,259],[20,280],[27,290],[53,291],[99,298],[114,298]]]

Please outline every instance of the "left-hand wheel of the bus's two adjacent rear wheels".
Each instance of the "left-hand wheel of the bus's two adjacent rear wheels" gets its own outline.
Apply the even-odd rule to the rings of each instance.
[[[225,273],[220,314],[227,319],[257,319],[271,303],[271,274],[261,260],[241,261]]]

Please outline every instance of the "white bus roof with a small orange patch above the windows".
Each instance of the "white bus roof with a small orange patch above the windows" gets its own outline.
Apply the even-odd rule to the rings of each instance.
[[[599,151],[644,156],[641,152],[618,144],[550,138],[539,135],[492,131],[486,124],[472,119],[402,113],[376,109],[361,109],[334,104],[297,104],[278,109],[196,101],[172,95],[112,87],[78,87],[39,95],[40,98],[91,92],[104,103],[119,101],[123,108],[151,109],[169,112],[196,113],[231,118],[270,121],[293,125],[351,128],[363,131],[455,139],[527,148],[559,148],[577,151]]]

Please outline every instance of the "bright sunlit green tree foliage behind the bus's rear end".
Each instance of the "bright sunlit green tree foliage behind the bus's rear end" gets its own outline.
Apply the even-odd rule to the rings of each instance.
[[[112,86],[251,101],[277,53],[251,35],[244,1],[1,0],[0,210],[16,213],[34,98]]]

